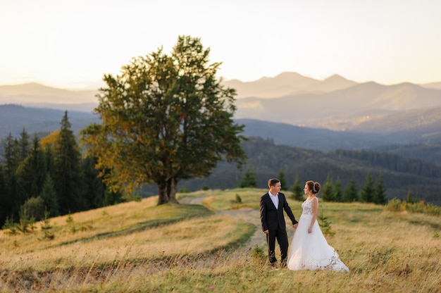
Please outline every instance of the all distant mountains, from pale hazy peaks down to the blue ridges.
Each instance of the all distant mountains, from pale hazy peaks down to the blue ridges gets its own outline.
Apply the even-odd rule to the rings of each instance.
[[[281,73],[223,85],[237,91],[235,119],[246,125],[245,135],[279,144],[327,151],[441,142],[441,82],[380,85],[340,75],[315,80]],[[28,132],[58,129],[63,112],[55,110],[68,110],[79,130],[98,120],[92,116],[98,93],[36,83],[0,86],[0,137],[16,135],[23,127]]]

